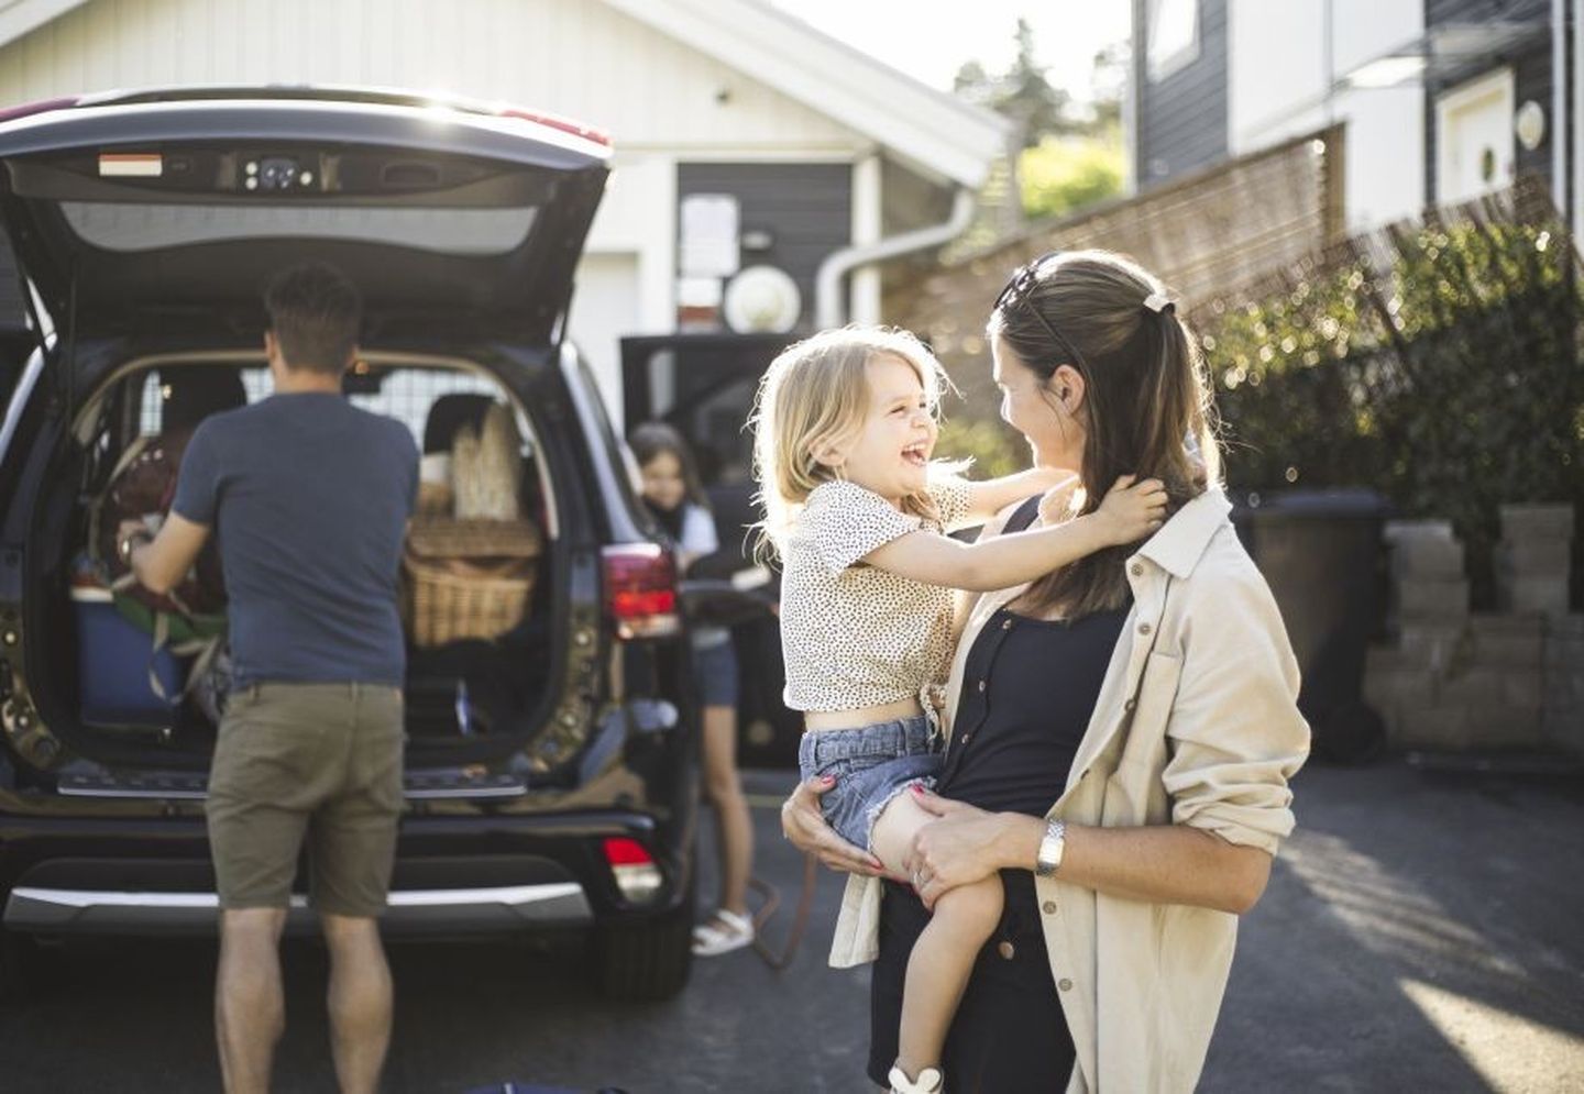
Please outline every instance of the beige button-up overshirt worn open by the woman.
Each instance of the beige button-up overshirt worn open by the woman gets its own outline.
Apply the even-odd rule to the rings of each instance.
[[[1297,663],[1270,591],[1220,491],[1172,516],[1128,559],[1133,610],[1049,811],[1077,825],[1193,825],[1277,852],[1293,831],[1288,779],[1308,755]],[[947,686],[985,621],[1019,591],[973,606]],[[1060,876],[1058,876],[1060,877]],[[1237,917],[1140,904],[1036,879],[1045,947],[1077,1047],[1069,1094],[1193,1091],[1232,966]],[[873,961],[879,882],[852,876],[833,966]]]

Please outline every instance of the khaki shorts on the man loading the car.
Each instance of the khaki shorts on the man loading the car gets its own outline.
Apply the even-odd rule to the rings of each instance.
[[[220,907],[287,907],[303,838],[309,902],[385,909],[402,811],[402,692],[379,684],[252,684],[231,693],[209,771]]]

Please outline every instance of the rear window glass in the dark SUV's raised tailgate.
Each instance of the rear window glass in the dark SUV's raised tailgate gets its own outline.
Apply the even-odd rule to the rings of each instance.
[[[246,239],[342,239],[447,255],[505,255],[527,239],[539,212],[505,209],[380,209],[304,204],[143,204],[62,201],[82,241],[120,252]]]

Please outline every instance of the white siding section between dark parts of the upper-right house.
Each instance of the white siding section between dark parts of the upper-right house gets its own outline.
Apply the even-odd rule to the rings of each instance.
[[[1331,59],[1326,59],[1326,11]],[[1329,95],[1353,68],[1424,33],[1421,0],[1232,0],[1228,123],[1234,155],[1346,122],[1348,226],[1424,204],[1424,89]]]

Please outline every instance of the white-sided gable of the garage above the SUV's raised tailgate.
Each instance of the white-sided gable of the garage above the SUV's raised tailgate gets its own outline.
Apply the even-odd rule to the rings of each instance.
[[[209,82],[447,89],[569,114],[629,149],[865,144],[597,0],[90,0],[0,49],[0,104]]]

